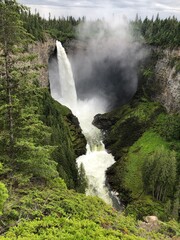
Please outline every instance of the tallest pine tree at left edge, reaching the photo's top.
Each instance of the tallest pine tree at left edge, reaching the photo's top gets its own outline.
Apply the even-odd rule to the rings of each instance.
[[[4,124],[7,124],[9,133],[8,155],[12,159],[15,143],[15,115],[17,115],[15,110],[16,90],[19,81],[15,54],[22,51],[21,47],[28,38],[20,21],[20,11],[22,10],[23,7],[14,0],[0,1],[1,96],[4,101],[3,111],[6,114]]]

